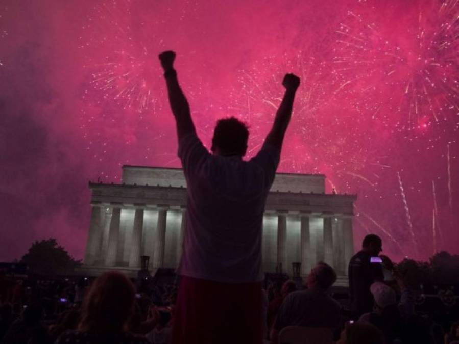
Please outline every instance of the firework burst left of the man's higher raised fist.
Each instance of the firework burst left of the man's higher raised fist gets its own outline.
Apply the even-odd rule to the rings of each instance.
[[[84,67],[90,72],[92,86],[101,91],[104,99],[115,101],[123,109],[151,112],[157,102],[152,61],[161,41],[151,37],[150,24],[133,20],[133,6],[130,0],[94,6],[94,13],[83,27],[85,32],[92,32],[81,43],[88,55]],[[95,54],[99,51],[107,52],[102,60]]]

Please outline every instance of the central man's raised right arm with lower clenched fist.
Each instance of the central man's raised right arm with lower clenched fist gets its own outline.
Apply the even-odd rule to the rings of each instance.
[[[272,144],[279,150],[282,148],[285,131],[292,117],[293,100],[295,99],[295,93],[300,85],[300,78],[294,74],[285,74],[282,85],[285,87],[284,98],[274,118],[273,128],[265,140],[265,142]]]

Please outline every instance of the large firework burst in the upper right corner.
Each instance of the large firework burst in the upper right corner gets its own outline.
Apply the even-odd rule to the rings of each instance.
[[[349,11],[332,61],[335,95],[396,131],[448,122],[459,111],[459,3],[412,8],[392,25],[375,21],[369,3]]]

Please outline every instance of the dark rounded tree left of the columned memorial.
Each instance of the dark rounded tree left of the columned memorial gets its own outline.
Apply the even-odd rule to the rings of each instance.
[[[34,242],[20,262],[28,265],[29,272],[48,276],[66,275],[81,264],[54,238]]]

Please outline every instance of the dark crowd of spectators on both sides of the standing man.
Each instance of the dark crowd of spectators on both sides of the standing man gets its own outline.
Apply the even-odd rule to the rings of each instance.
[[[302,289],[297,290],[292,280],[263,289],[265,342],[276,344],[282,329],[300,326],[328,328],[340,344],[459,343],[458,319],[452,316],[439,324],[418,313],[417,290],[396,264],[383,257],[379,267],[386,271],[375,273],[373,266],[355,262],[366,256],[358,252],[351,260],[351,292],[356,288],[359,293],[351,295],[350,303],[332,297],[337,277],[324,262],[311,269]],[[165,344],[171,340],[175,284],[147,287],[117,272],[98,278],[31,280],[3,275],[0,279],[0,343]]]

